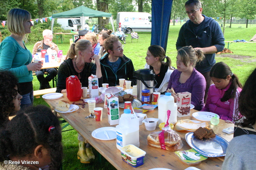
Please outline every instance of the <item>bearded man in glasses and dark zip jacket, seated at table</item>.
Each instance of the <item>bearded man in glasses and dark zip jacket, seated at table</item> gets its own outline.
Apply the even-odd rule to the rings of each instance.
[[[134,66],[132,60],[123,53],[124,45],[118,37],[112,35],[104,43],[107,54],[100,60],[103,82],[109,86],[118,86],[119,78],[132,81],[131,86],[137,84],[137,78],[133,76]]]

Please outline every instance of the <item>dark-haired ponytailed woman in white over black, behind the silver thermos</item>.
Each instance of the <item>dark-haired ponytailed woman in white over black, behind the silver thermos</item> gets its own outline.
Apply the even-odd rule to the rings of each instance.
[[[170,76],[174,70],[171,66],[170,57],[166,56],[164,49],[159,45],[150,45],[148,47],[146,64],[144,68],[150,68],[156,74],[157,85],[155,92],[165,92]],[[164,60],[166,59],[166,62]]]

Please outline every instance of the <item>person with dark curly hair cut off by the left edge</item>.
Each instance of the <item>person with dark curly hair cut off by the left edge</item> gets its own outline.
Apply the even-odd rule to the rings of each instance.
[[[18,93],[18,79],[8,70],[0,70],[0,128],[5,128],[9,116],[20,110],[22,96]]]

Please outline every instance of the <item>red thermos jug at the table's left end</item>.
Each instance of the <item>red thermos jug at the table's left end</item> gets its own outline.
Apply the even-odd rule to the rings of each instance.
[[[82,97],[82,88],[80,80],[77,76],[69,76],[66,78],[67,98],[71,102],[76,102]]]

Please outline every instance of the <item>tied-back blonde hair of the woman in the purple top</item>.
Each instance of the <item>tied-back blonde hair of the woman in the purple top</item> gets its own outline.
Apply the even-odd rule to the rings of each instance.
[[[194,67],[196,66],[197,62],[204,59],[203,51],[200,49],[194,49],[191,45],[179,49],[178,55],[180,56],[180,59],[185,66],[188,66],[190,63],[192,63],[192,66]]]

